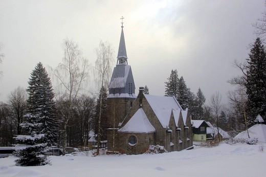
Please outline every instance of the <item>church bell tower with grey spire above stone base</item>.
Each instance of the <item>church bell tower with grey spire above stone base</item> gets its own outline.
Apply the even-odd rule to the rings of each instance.
[[[135,83],[132,70],[127,62],[125,38],[123,31],[123,16],[121,18],[121,36],[117,55],[117,64],[114,68],[110,84],[108,87],[109,95],[107,96],[107,125],[106,130],[108,151],[115,151],[119,139],[117,130],[121,122],[126,117],[132,103],[137,96],[135,95]]]

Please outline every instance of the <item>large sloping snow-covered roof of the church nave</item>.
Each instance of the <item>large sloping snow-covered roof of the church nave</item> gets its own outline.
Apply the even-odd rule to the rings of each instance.
[[[148,101],[150,107],[152,108],[154,114],[158,117],[160,123],[164,128],[169,125],[170,116],[173,111],[175,120],[178,120],[176,113],[182,112],[183,109],[179,102],[174,97],[163,97],[144,94],[146,100]],[[186,115],[187,113],[184,113]],[[182,114],[183,116],[183,114]],[[184,118],[183,118],[184,119]],[[176,125],[178,122],[175,122]]]

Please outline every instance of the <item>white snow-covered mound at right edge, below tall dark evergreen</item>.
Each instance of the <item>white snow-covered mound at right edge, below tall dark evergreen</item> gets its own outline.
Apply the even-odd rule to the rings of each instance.
[[[265,124],[255,124],[248,129],[250,138],[258,138],[258,142],[266,143],[266,125]],[[248,132],[242,131],[237,136],[233,138],[237,139],[248,139]]]

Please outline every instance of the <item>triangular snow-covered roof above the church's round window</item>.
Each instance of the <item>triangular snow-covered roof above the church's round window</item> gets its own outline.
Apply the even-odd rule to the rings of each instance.
[[[144,113],[142,108],[139,108],[137,112],[131,117],[131,119],[120,128],[118,131],[120,132],[154,132],[155,128],[149,122],[146,114]]]

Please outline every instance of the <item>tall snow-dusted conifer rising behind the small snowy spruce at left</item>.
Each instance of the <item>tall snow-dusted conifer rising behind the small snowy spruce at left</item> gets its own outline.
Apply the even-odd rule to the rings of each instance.
[[[55,116],[54,93],[51,80],[41,62],[31,73],[28,83],[28,114],[38,117],[41,126],[37,133],[46,135],[48,145],[56,145],[58,124]]]

